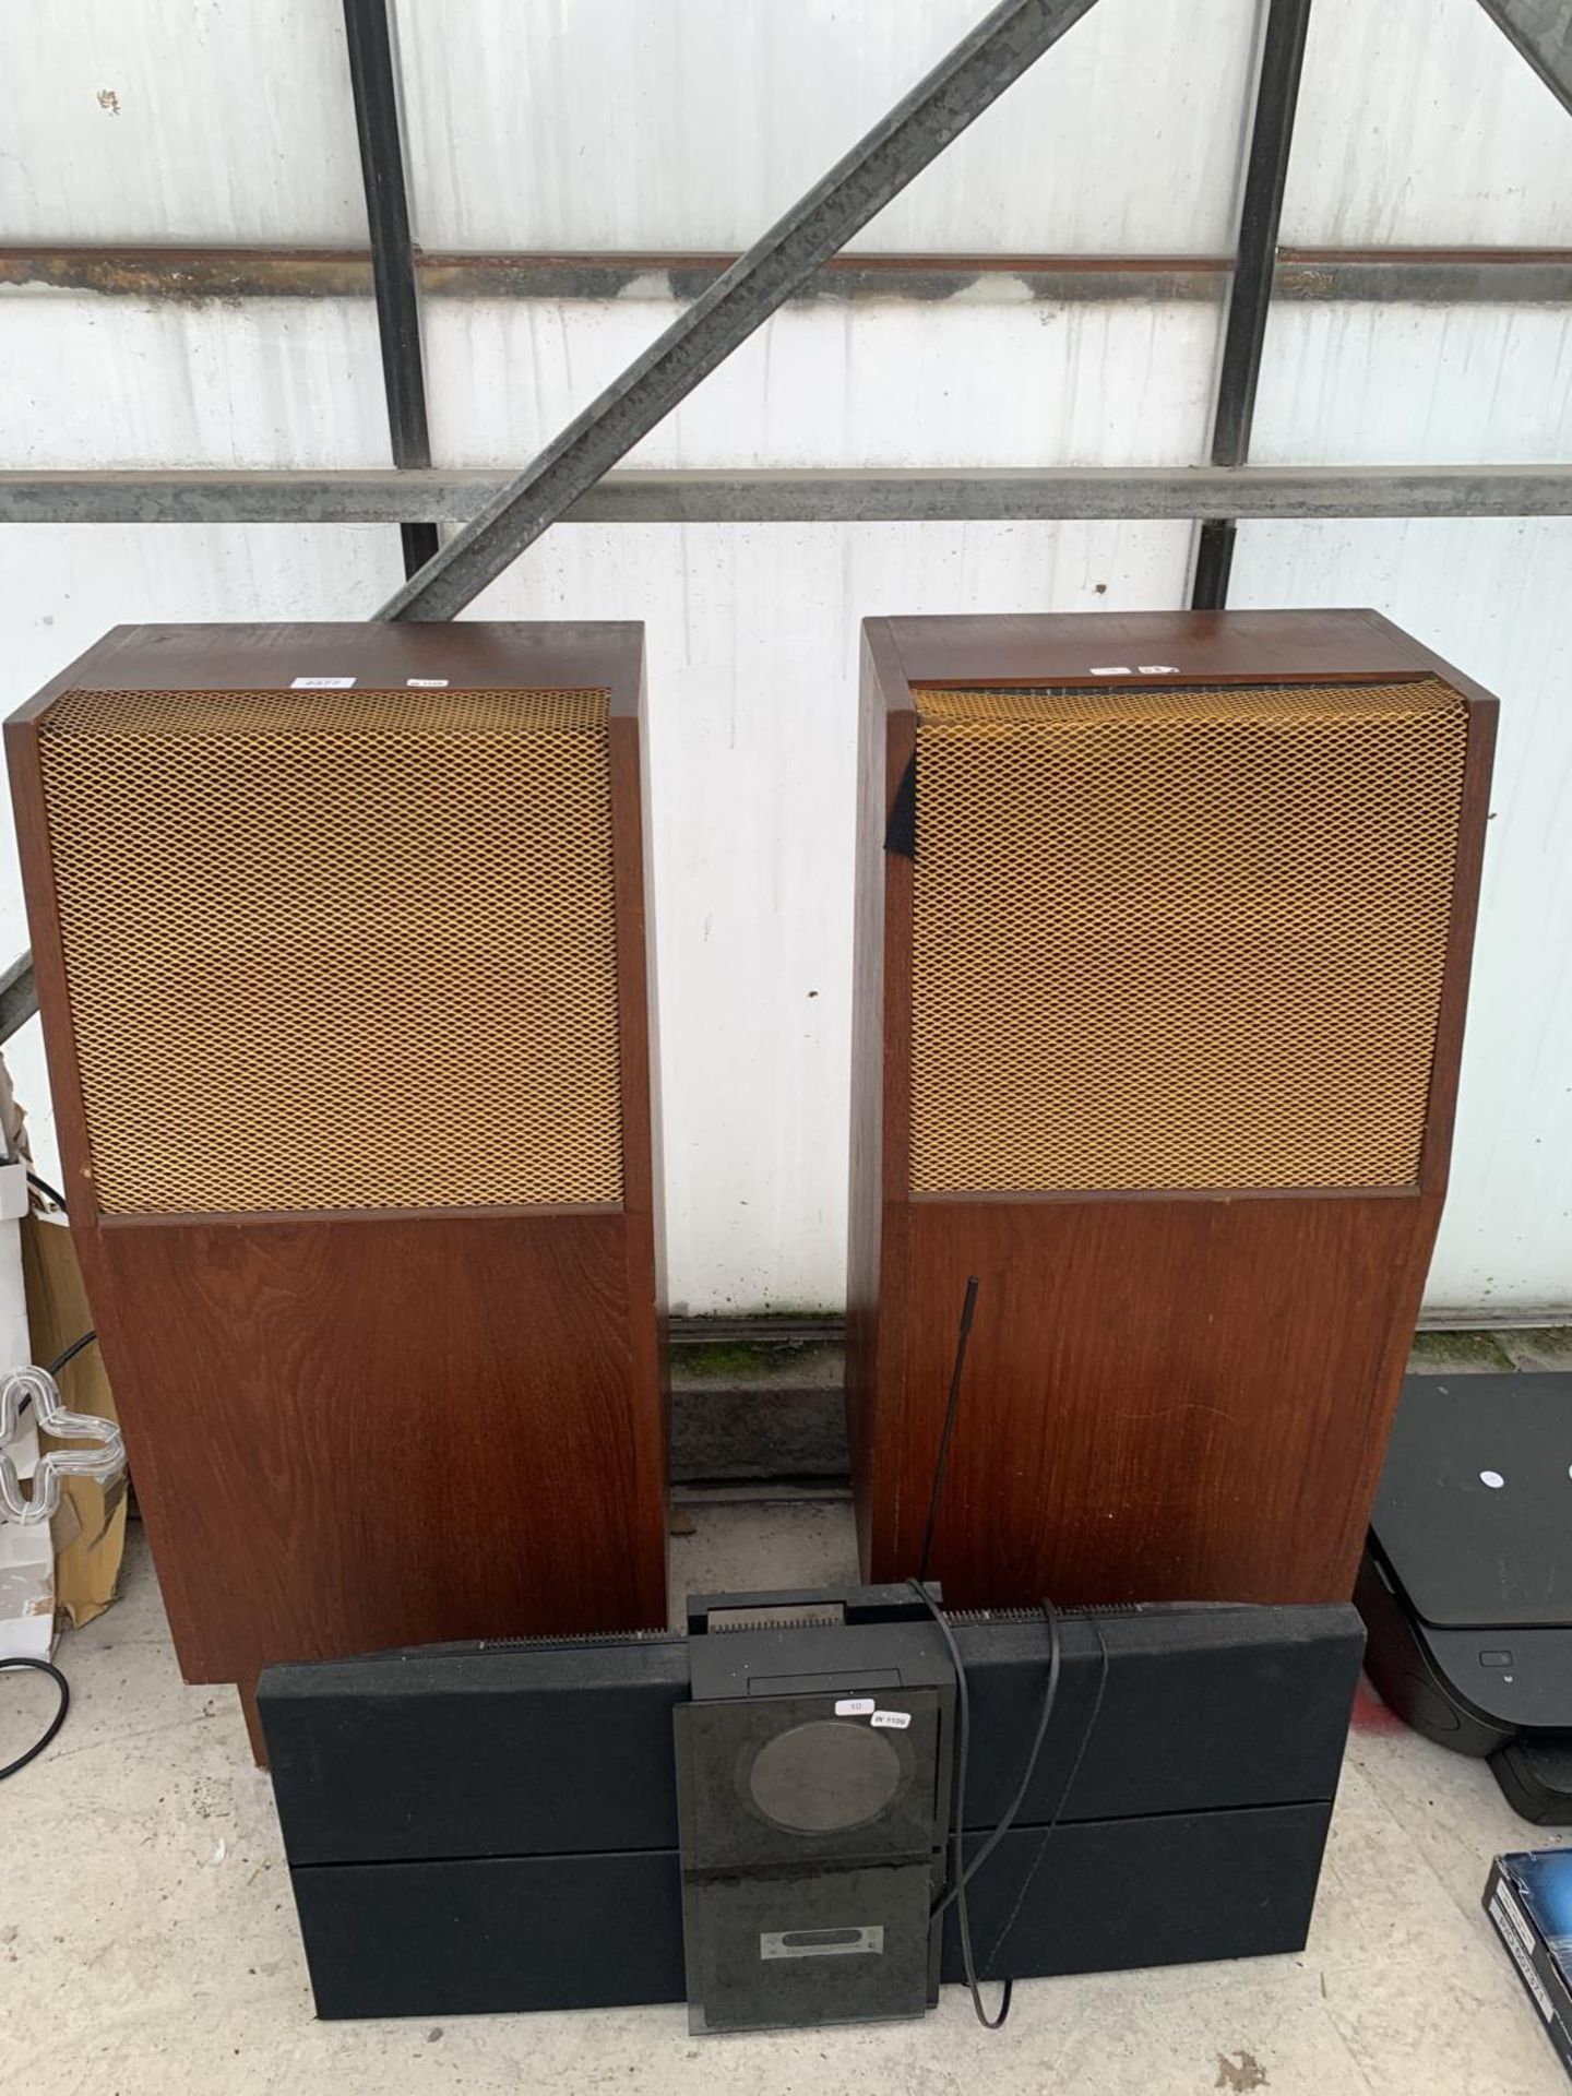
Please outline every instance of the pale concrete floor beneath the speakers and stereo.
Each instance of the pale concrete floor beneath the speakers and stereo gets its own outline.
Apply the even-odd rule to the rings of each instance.
[[[838,1501],[706,1505],[673,1543],[673,1591],[851,1570]],[[1033,1981],[996,2037],[945,1989],[924,2023],[700,2044],[681,2008],[314,2023],[268,1782],[235,1696],[180,1681],[140,1532],[124,1601],[61,1664],[69,1725],[0,1792],[0,2088],[1566,2096],[1480,1912],[1490,1857],[1536,1832],[1482,1765],[1364,1700],[1302,1958]],[[0,1679],[0,1759],[46,1708],[44,1683]]]

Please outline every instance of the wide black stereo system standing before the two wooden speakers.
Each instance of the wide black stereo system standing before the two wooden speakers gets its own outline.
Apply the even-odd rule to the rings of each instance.
[[[780,2021],[809,1985],[845,1993],[849,2016],[920,2014],[962,1972],[954,1907],[937,1943],[918,1926],[947,1865],[954,1698],[937,1631],[901,1650],[910,1599],[717,1597],[696,1603],[700,1635],[270,1668],[260,1708],[319,2014],[690,1997],[698,2027],[723,2029]],[[811,1645],[801,1622],[719,1629],[721,1606],[771,1603],[832,1620]],[[975,1855],[1027,1767],[1050,1639],[1038,1612],[947,1620],[970,1689]],[[1058,1620],[1033,1782],[968,1886],[979,1974],[1300,1949],[1358,1679],[1354,1610]],[[866,1712],[851,1731],[836,1704],[912,1723]],[[694,1759],[677,1738],[696,1719]]]

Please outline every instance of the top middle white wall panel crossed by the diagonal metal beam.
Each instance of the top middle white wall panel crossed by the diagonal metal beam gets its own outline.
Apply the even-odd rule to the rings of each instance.
[[[400,0],[428,247],[748,247],[983,0]],[[857,239],[1224,254],[1256,0],[1098,0]]]

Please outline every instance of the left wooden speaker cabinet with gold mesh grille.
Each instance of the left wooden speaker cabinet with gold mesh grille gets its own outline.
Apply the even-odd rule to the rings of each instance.
[[[119,627],[6,727],[191,1681],[667,1620],[637,625]]]

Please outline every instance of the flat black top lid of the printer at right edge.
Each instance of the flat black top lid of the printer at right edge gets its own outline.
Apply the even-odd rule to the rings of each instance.
[[[1436,1629],[1572,1624],[1572,1375],[1411,1375],[1375,1541]]]

